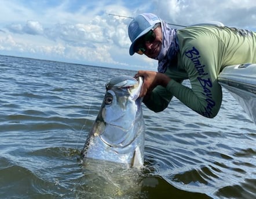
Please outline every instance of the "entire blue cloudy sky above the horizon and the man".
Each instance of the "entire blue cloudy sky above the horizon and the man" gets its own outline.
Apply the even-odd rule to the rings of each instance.
[[[256,31],[255,10],[251,0],[0,0],[0,54],[157,70],[156,60],[130,56],[127,17],[154,13],[172,24],[220,21]]]

